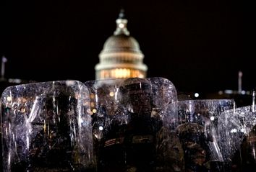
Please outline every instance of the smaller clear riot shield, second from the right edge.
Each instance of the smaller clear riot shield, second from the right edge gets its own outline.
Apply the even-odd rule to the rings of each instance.
[[[176,130],[184,150],[185,171],[223,171],[218,118],[234,105],[234,100],[229,99],[178,102]]]

